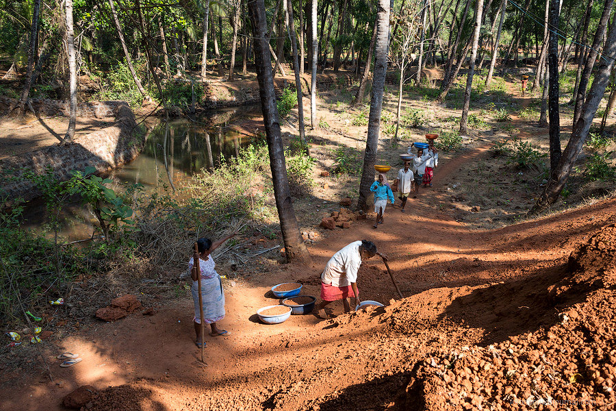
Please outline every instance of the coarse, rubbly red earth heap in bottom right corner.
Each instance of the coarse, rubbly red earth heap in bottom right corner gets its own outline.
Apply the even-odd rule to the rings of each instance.
[[[615,262],[610,225],[546,288],[553,324],[487,347],[430,353],[407,388],[413,401],[427,410],[614,409]]]

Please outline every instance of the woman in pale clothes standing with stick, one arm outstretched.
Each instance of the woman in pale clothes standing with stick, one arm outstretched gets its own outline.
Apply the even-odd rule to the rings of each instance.
[[[194,267],[192,258],[188,262],[188,271],[192,278],[192,299],[194,300],[194,332],[196,334],[196,345],[200,347],[205,344],[201,340],[201,311],[203,310],[203,321],[211,327],[211,336],[229,336],[230,332],[218,328],[218,321],[224,318],[224,293],[222,292],[222,280],[216,273],[214,267],[216,263],[211,258],[211,253],[220,247],[223,242],[235,236],[236,233],[229,234],[216,242],[211,242],[209,238],[199,238],[196,241],[199,256],[199,269],[201,271],[201,297],[203,302],[199,304],[199,272]]]

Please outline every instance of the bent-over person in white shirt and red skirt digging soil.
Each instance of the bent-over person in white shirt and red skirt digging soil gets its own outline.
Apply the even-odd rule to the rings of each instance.
[[[350,312],[350,299],[355,298],[355,306],[359,304],[357,289],[357,271],[362,260],[374,257],[376,245],[372,241],[359,240],[339,250],[327,262],[321,274],[321,299],[316,306],[317,315],[327,318],[325,307],[342,299],[344,312]]]

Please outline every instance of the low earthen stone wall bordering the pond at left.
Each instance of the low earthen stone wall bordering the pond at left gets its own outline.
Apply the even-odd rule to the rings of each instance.
[[[36,110],[37,106],[34,107]],[[40,110],[64,110],[62,102],[38,107]],[[105,112],[114,115],[116,122],[97,132],[78,136],[71,145],[56,144],[0,160],[2,190],[8,199],[21,197],[27,201],[40,195],[33,182],[21,178],[24,171],[42,175],[51,169],[55,178],[64,181],[70,178],[70,171],[83,171],[86,166],[92,166],[97,169],[97,173],[106,173],[139,155],[145,143],[145,133],[138,127],[135,115],[127,103],[88,103],[80,106],[79,111],[94,113],[92,115]],[[49,111],[42,112],[50,114]]]

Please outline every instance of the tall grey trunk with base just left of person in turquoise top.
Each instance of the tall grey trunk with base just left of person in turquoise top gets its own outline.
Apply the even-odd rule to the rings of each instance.
[[[372,99],[370,100],[370,115],[368,116],[368,138],[365,142],[363,156],[363,171],[359,184],[358,208],[368,210],[370,186],[374,182],[374,164],[376,164],[376,149],[378,133],[381,129],[381,110],[383,108],[383,90],[385,74],[387,73],[387,45],[389,40],[389,0],[378,0],[376,14],[376,44],[374,45],[374,75],[372,77]],[[366,62],[366,64],[370,64]]]

